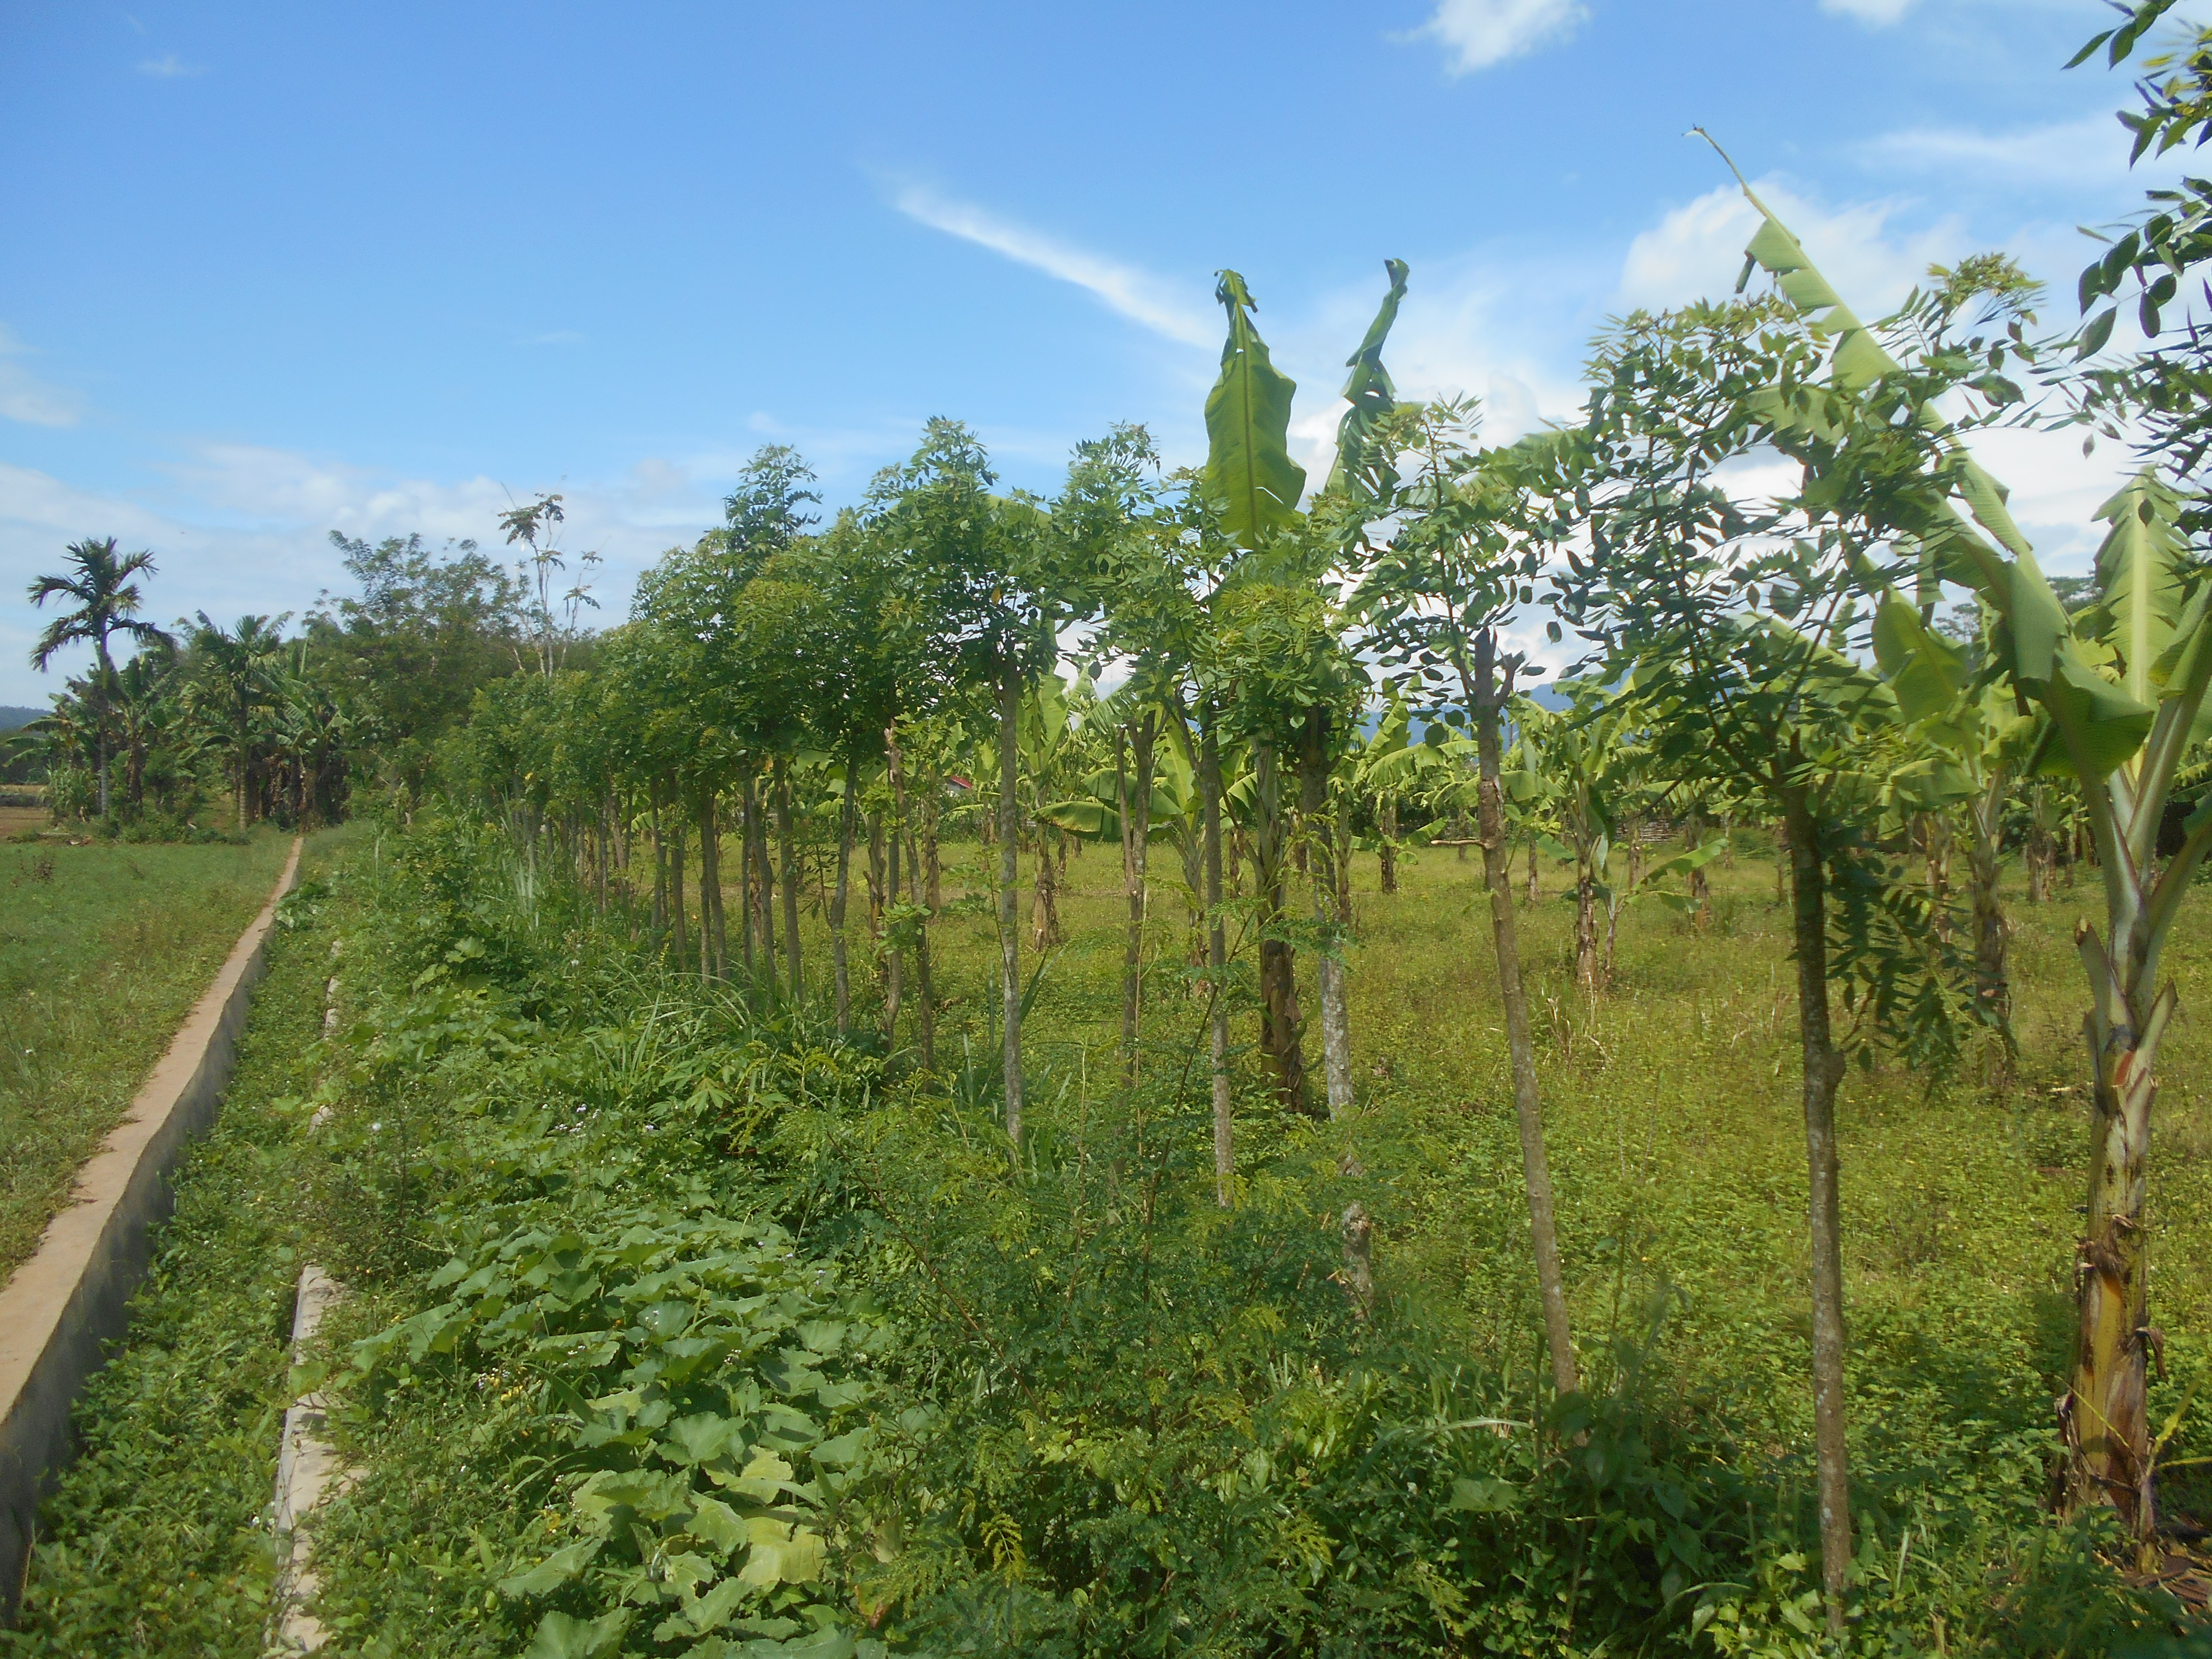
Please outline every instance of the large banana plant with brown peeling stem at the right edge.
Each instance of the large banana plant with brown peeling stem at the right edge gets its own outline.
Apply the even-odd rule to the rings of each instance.
[[[2161,967],[2194,869],[2212,847],[2212,794],[2188,816],[2181,849],[2163,865],[2157,838],[2177,774],[2201,737],[2212,681],[2212,582],[2192,571],[2177,529],[2179,498],[2146,467],[2097,513],[2110,524],[2097,551],[2101,604],[2068,615],[2013,522],[2004,487],[1936,407],[1944,365],[1931,354],[1898,363],[1796,237],[1747,186],[1745,195],[1761,215],[1745,270],[1767,270],[1787,301],[1836,341],[1829,389],[1863,396],[1885,383],[1927,385],[1913,434],[1924,465],[1905,482],[1891,480],[1880,502],[1887,529],[1931,546],[1944,580],[1991,606],[2000,619],[1991,633],[1993,670],[2051,721],[2051,757],[2081,787],[2106,925],[2101,933],[2086,925],[2077,933],[2095,1077],[2075,1354],[2059,1402],[2062,1484],[2068,1509],[2106,1504],[2148,1548],[2157,1455],[2146,1396],[2159,1338],[2148,1307],[2143,1199],[2159,1042],[2179,1006]],[[1986,361],[2002,356],[2000,345]],[[1953,383],[1973,385],[1958,374]],[[1774,409],[1776,440],[1798,449],[1803,422],[1781,403]],[[1905,436],[1902,425],[1898,431]]]

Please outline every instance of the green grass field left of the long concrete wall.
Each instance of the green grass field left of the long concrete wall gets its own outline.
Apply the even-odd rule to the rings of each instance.
[[[0,1281],[261,909],[290,836],[0,845]]]

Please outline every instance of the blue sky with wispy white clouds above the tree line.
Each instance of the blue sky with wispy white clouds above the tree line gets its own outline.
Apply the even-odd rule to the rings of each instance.
[[[1009,482],[1144,420],[1203,447],[1234,265],[1325,458],[1343,356],[1491,436],[1608,312],[1734,281],[1701,122],[1860,310],[2008,248],[2073,310],[2139,199],[2095,0],[0,4],[0,701],[24,584],[150,546],[148,613],[301,611],[327,531],[498,540],[560,489],[635,571],[761,442],[830,502],[920,422]],[[1984,447],[2057,568],[2117,453]],[[73,666],[73,664],[64,664]]]

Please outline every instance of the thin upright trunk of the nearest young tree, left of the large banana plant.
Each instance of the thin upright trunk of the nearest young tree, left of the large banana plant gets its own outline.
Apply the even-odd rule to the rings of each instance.
[[[1803,785],[1783,785],[1790,825],[1790,878],[1798,962],[1803,1048],[1807,1223],[1812,1232],[1812,1407],[1820,1495],[1820,1584],[1827,1628],[1843,1635],[1845,1577],[1851,1568],[1851,1471],[1843,1396],[1843,1210],[1836,1159],[1836,1086],[1843,1055],[1827,1022],[1827,869]]]

